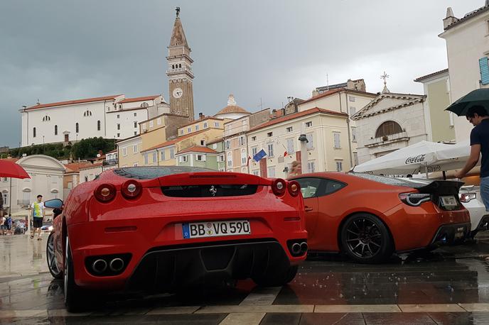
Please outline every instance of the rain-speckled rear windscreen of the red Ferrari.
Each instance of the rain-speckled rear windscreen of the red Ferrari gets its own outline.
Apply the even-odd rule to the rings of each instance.
[[[185,166],[122,167],[114,170],[114,173],[119,176],[135,178],[136,180],[151,180],[184,172],[215,172],[215,170]]]

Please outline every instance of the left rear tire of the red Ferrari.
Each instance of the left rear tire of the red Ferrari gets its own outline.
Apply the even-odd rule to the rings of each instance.
[[[66,236],[65,263],[63,282],[65,290],[65,307],[68,312],[82,312],[87,307],[88,299],[75,283],[75,272],[71,257],[70,240]]]

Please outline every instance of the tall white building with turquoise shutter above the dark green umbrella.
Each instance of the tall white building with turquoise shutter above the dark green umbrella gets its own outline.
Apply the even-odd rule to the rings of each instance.
[[[446,41],[446,55],[451,102],[474,89],[489,87],[489,1],[485,6],[467,13],[463,18],[446,10],[444,32],[439,36]],[[466,140],[473,126],[465,116],[454,119],[456,141]]]

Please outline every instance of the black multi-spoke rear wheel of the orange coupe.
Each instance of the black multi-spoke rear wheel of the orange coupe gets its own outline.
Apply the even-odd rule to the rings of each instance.
[[[372,214],[354,214],[340,231],[343,253],[358,263],[380,263],[392,255],[394,245],[387,227]]]

